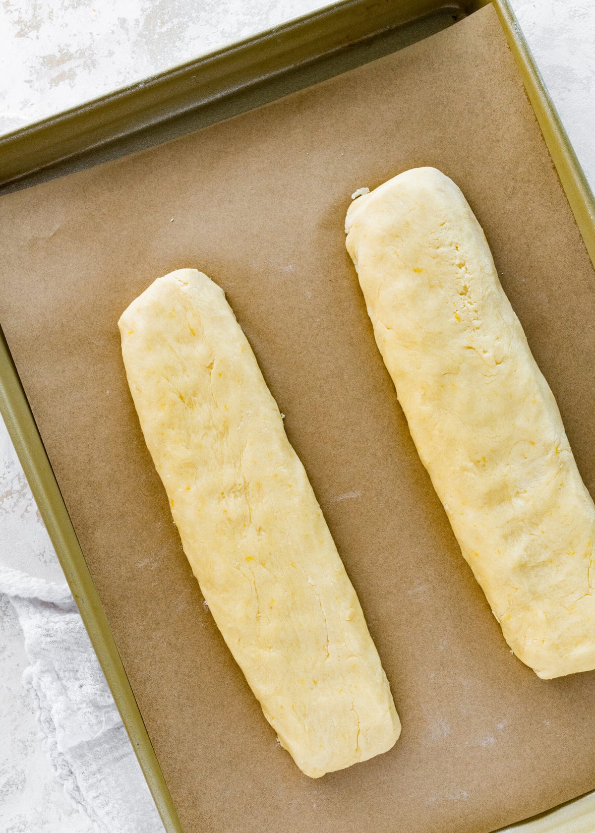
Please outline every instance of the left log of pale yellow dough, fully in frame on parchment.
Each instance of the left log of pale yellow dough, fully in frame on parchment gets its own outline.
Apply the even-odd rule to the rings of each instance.
[[[353,586],[223,290],[159,278],[118,322],[184,552],[281,744],[313,778],[401,725]]]

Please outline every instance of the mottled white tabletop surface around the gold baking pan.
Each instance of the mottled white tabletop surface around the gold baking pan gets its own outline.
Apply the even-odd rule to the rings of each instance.
[[[2,0],[0,133],[322,6],[317,0]],[[595,187],[595,2],[512,0]],[[60,568],[0,423],[0,559]],[[91,833],[53,777],[21,677],[23,635],[0,596],[0,830]]]

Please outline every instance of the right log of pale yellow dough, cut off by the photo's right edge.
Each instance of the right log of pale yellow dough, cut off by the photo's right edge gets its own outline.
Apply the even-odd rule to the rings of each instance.
[[[595,667],[595,507],[458,187],[415,168],[358,197],[348,252],[423,465],[512,651]]]

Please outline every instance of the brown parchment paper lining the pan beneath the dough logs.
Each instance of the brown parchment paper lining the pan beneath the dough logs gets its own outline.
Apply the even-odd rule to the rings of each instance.
[[[595,787],[595,674],[511,656],[418,460],[344,248],[350,195],[463,188],[595,489],[593,272],[491,7],[402,52],[0,200],[1,316],[188,833],[481,833]],[[198,267],[286,415],[403,721],[317,781],[264,720],[183,556],[117,318]]]

